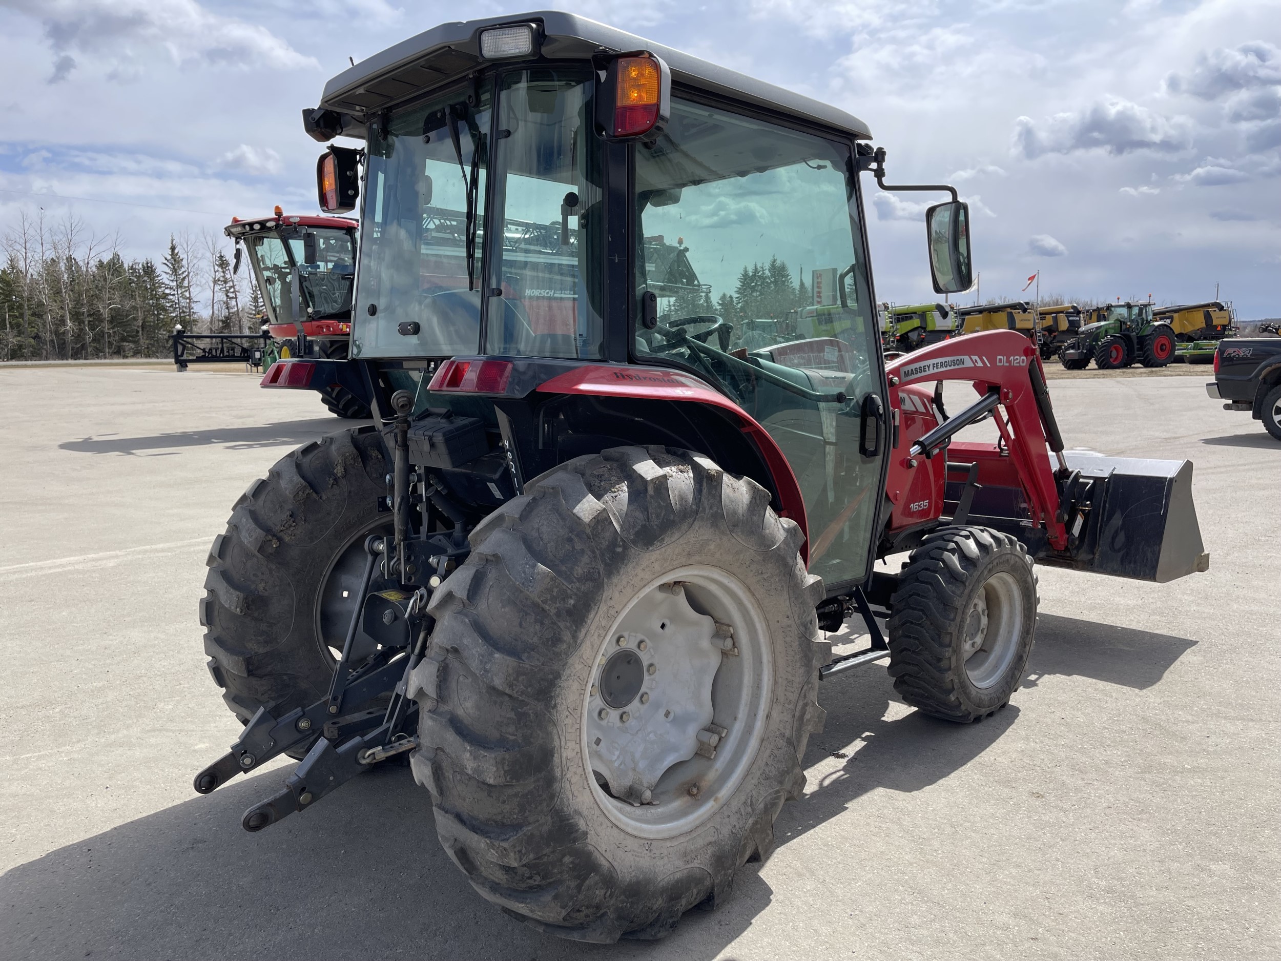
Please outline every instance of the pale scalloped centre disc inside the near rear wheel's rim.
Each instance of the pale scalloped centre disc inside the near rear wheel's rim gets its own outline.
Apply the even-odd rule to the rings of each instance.
[[[592,770],[614,797],[649,802],[669,768],[719,741],[707,729],[720,637],[716,620],[696,611],[680,584],[651,588],[616,627],[606,648],[614,652],[597,662],[587,718]]]

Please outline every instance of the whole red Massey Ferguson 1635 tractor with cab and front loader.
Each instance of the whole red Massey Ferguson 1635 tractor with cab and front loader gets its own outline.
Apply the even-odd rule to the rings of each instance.
[[[320,176],[328,213],[363,204],[374,423],[283,457],[209,556],[209,670],[243,729],[195,788],[298,759],[250,832],[407,760],[483,898],[658,938],[770,856],[821,679],[888,661],[908,705],[979,721],[1022,678],[1036,564],[1208,565],[1191,464],[1066,451],[1021,332],[883,361],[865,174],[951,193],[926,214],[940,295],[970,287],[970,214],[886,183],[843,110],[547,12],[375,54],[304,126],[361,141]],[[836,304],[726,350],[708,301],[774,259],[833,272]],[[943,382],[972,402],[949,416]],[[999,441],[956,437],[981,419]],[[867,646],[833,657],[847,620]]]

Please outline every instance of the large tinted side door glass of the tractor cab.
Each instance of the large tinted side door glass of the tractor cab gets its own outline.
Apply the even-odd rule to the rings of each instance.
[[[674,101],[635,155],[638,296],[658,304],[637,352],[719,381],[769,431],[804,496],[810,569],[862,579],[880,461],[858,454],[860,410],[880,378],[848,146]]]

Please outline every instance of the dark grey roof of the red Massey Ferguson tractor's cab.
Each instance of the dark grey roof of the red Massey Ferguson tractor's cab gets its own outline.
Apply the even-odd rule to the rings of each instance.
[[[538,23],[547,59],[587,59],[598,53],[649,50],[671,68],[674,83],[707,90],[776,113],[793,114],[825,127],[870,140],[871,131],[857,117],[829,104],[772,83],[729,70],[697,56],[653,44],[585,17],[539,10],[478,21],[442,23],[361,60],[325,83],[320,108],[364,122],[370,114],[396,106],[424,90],[446,83],[491,62],[480,56],[480,31],[488,27]],[[512,60],[494,63],[519,63]],[[346,136],[360,132],[345,124]]]

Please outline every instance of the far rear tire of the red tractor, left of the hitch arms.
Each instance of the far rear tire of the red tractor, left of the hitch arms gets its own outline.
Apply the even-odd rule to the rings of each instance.
[[[214,538],[200,623],[209,673],[242,723],[259,707],[279,718],[328,693],[365,537],[389,529],[377,507],[388,469],[371,427],[329,434],[251,483]],[[370,589],[384,587],[375,577]]]

